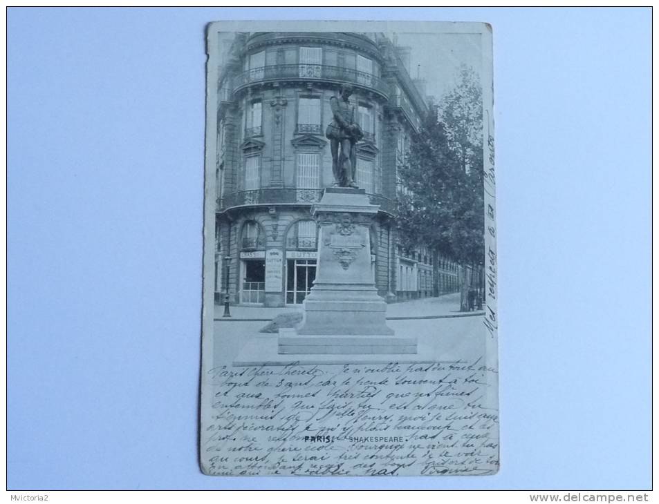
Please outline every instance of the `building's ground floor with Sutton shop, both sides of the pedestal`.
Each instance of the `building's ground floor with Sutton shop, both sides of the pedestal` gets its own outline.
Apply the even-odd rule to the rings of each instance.
[[[428,251],[403,255],[389,217],[371,226],[371,272],[387,302],[457,289],[456,272]],[[215,300],[262,307],[299,305],[313,287],[317,226],[304,211],[243,211],[216,222]]]

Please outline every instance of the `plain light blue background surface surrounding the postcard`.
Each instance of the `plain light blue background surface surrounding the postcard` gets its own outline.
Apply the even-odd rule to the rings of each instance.
[[[204,28],[494,27],[501,471],[213,478],[197,463]],[[651,484],[651,11],[8,11],[8,485]]]

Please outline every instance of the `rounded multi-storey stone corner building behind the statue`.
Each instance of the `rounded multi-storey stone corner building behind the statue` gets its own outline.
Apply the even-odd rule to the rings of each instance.
[[[374,33],[258,32],[236,34],[224,54],[215,128],[216,300],[228,289],[233,304],[282,307],[301,304],[313,286],[310,207],[334,182],[325,130],[330,98],[346,82],[364,132],[356,182],[380,206],[370,236],[375,286],[389,302],[437,295],[440,261],[396,245],[396,171],[427,112],[405,48]]]

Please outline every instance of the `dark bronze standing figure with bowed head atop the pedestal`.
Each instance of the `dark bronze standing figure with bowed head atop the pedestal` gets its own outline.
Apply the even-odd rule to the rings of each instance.
[[[350,103],[352,93],[352,86],[342,84],[340,96],[331,97],[333,120],[328,124],[325,136],[330,140],[334,185],[357,188],[355,144],[362,139],[364,134],[362,128],[355,122],[355,106]]]

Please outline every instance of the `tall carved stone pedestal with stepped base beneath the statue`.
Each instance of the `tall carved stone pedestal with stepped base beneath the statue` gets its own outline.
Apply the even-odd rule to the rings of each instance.
[[[279,353],[416,353],[416,338],[396,337],[375,289],[369,229],[379,207],[363,189],[326,188],[311,213],[319,226],[316,278],[297,331],[279,334]]]

